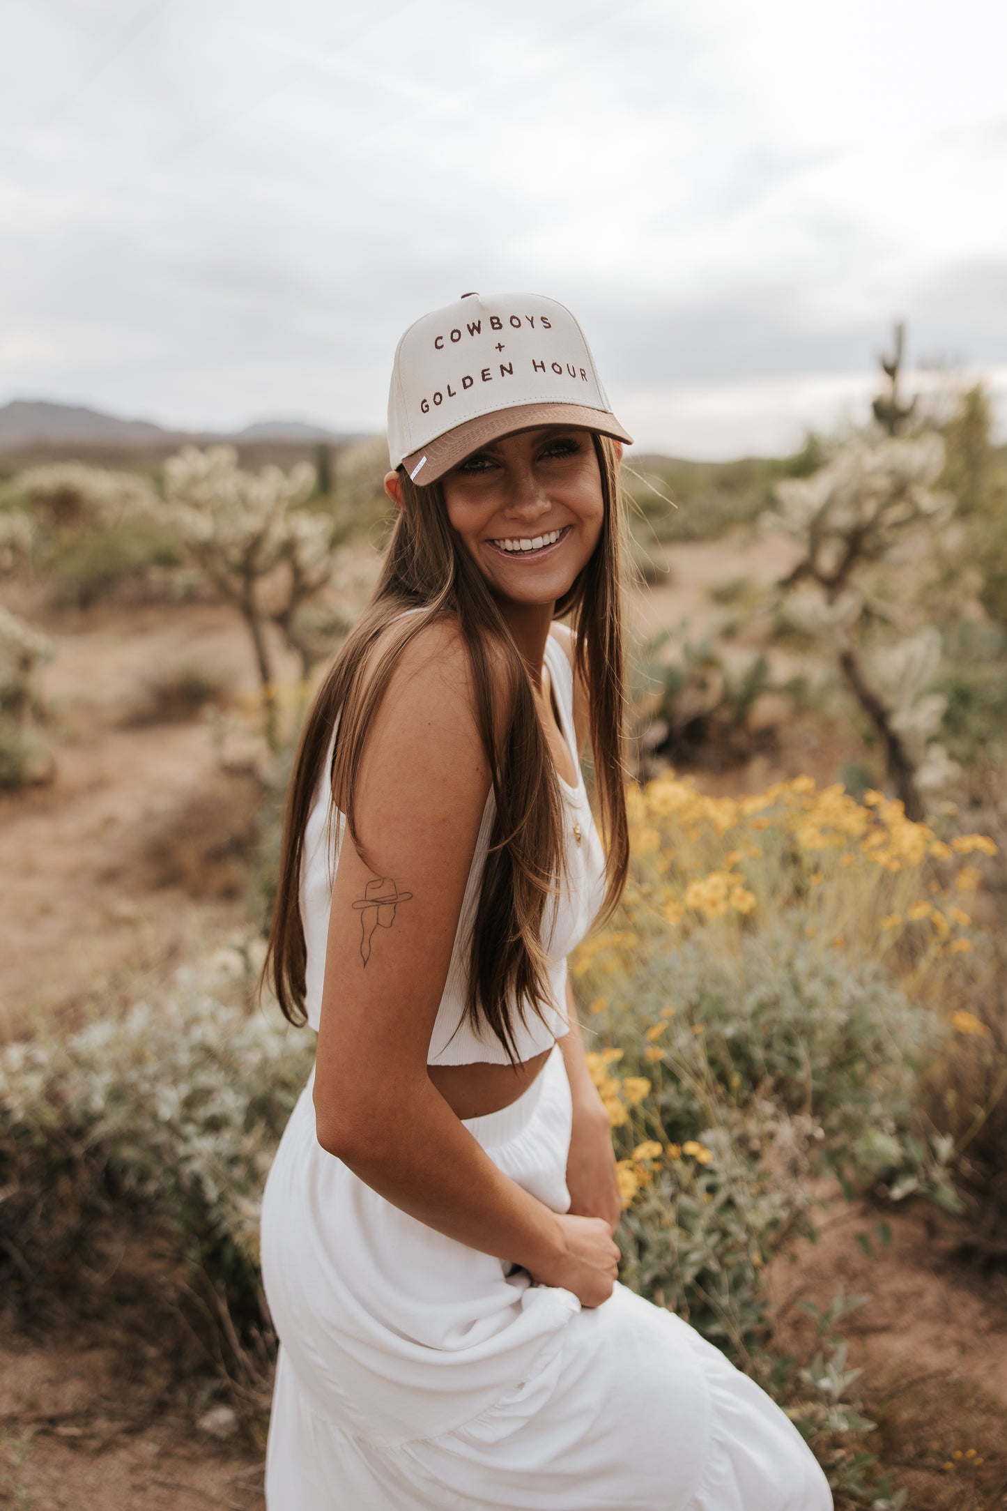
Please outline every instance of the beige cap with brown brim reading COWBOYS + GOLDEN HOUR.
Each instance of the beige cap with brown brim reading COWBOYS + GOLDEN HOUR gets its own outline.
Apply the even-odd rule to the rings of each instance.
[[[537,293],[465,293],[399,341],[388,455],[415,484],[539,425],[577,425],[633,444],[566,305]]]

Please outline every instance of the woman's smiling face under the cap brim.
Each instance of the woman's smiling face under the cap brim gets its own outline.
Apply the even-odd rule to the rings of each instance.
[[[441,485],[448,520],[497,598],[554,603],[598,544],[604,497],[589,431],[548,425],[504,435]]]

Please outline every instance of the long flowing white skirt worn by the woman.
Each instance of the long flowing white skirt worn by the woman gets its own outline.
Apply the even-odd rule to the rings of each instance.
[[[313,1079],[263,1198],[269,1511],[830,1511],[794,1425],[694,1328],[619,1284],[581,1310],[400,1212],[319,1145]],[[465,1127],[566,1210],[559,1047]]]

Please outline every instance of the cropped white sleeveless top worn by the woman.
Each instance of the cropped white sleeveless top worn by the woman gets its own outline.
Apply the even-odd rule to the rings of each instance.
[[[414,613],[417,610],[406,610]],[[560,633],[563,633],[560,630]],[[595,819],[587,801],[587,789],[580,769],[577,736],[574,733],[574,671],[554,630],[545,642],[545,663],[550,669],[556,703],[559,706],[563,736],[569,745],[577,772],[577,786],[571,787],[557,772],[566,820],[566,855],[569,885],[547,904],[544,916],[544,943],[550,956],[550,1000],[542,1003],[542,1018],[527,1011],[527,1021],[515,1023],[515,1041],[519,1059],[531,1059],[550,1049],[566,1034],[566,956],[580,944],[595,922],[605,895],[605,855]],[[316,786],[311,811],[305,825],[303,854],[300,861],[300,919],[306,946],[305,1011],[313,1029],[319,1027],[322,1012],[322,982],[325,978],[325,952],[329,932],[329,910],[332,885],[340,863],[340,848],[346,816],[334,810],[334,822],[328,823],[331,789],[329,771],[335,749],[335,731]],[[492,787],[476,840],[476,851],[468,872],[465,896],[454,932],[454,947],[448,966],[444,993],[436,1021],[430,1035],[427,1064],[470,1065],[474,1061],[507,1064],[503,1044],[497,1035],[483,1027],[474,1027],[465,1015],[465,991],[468,984],[468,959],[479,893],[486,864],[486,848],[494,827],[497,802]],[[329,843],[326,845],[326,830]],[[580,843],[577,843],[577,831]]]

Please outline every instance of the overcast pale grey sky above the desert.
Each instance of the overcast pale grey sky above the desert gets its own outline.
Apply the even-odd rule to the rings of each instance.
[[[383,429],[470,289],[569,304],[643,447],[910,364],[1007,420],[1001,0],[6,0],[0,403]]]

